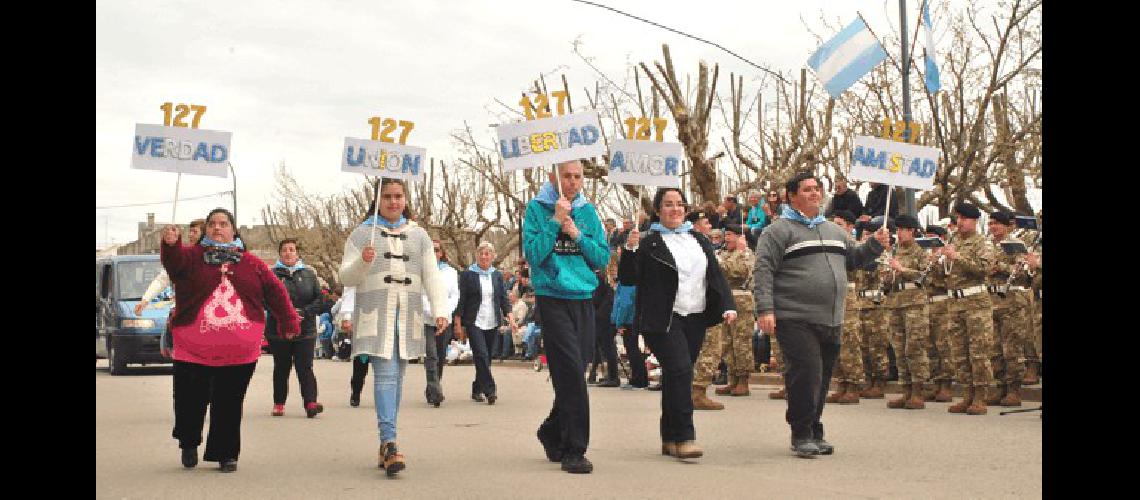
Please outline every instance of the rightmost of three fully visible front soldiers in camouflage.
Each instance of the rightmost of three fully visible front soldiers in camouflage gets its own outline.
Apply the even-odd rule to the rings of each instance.
[[[994,304],[995,354],[994,377],[997,391],[990,394],[986,404],[1003,407],[1021,405],[1021,378],[1025,376],[1025,344],[1031,337],[1029,309],[1033,296],[1029,290],[1025,255],[1010,255],[1002,251],[1002,241],[1020,241],[1013,238],[1013,214],[994,212],[990,215],[990,237],[994,246],[994,265],[988,278],[990,298]],[[1024,243],[1024,241],[1021,241]]]

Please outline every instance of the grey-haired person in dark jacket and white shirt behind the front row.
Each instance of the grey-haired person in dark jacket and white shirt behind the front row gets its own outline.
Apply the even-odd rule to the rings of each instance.
[[[491,376],[490,349],[498,336],[498,327],[511,313],[503,273],[491,267],[495,246],[483,241],[475,251],[475,263],[459,273],[459,304],[455,308],[455,325],[459,338],[471,342],[472,361],[475,363],[475,379],[471,383],[471,399],[495,404],[495,377]],[[486,289],[486,294],[483,293]],[[490,302],[484,303],[483,298]]]

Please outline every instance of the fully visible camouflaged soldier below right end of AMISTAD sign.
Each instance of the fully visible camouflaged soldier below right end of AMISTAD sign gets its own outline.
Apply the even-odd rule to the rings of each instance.
[[[898,245],[890,259],[890,295],[883,301],[890,310],[890,343],[898,363],[898,383],[903,396],[887,403],[887,408],[920,410],[926,408],[922,400],[922,383],[930,377],[930,360],[927,359],[927,343],[930,339],[930,317],[927,313],[927,294],[918,282],[926,268],[927,253],[914,243],[922,227],[913,215],[901,214],[895,219],[898,227]]]

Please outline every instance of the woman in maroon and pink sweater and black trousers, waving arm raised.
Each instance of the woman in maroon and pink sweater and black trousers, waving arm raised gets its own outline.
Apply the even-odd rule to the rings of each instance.
[[[292,338],[301,325],[280,280],[245,252],[234,214],[214,208],[205,237],[181,244],[176,226],[162,231],[162,265],[179,292],[171,318],[174,356],[174,431],[182,466],[198,464],[206,408],[210,434],[203,459],[225,473],[237,470],[242,404],[261,355],[264,310],[277,318],[276,334]],[[311,352],[311,349],[310,349]]]

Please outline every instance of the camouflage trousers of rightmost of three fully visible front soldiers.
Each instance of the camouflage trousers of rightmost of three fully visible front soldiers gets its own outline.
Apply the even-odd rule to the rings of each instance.
[[[1020,382],[1025,376],[1025,344],[1031,342],[1029,293],[1010,290],[994,303],[994,379],[1002,384]]]

